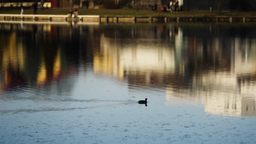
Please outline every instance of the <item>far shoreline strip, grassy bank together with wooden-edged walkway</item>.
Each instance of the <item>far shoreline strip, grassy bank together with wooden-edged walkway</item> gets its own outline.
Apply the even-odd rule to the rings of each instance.
[[[179,11],[165,13],[151,10],[112,10],[112,9],[78,9],[78,21],[85,22],[256,22],[256,12],[223,11]],[[39,9],[36,15],[33,9],[25,9],[20,15],[19,9],[0,9],[0,20],[4,21],[74,21],[68,19],[68,9]],[[1,16],[7,15],[7,16]],[[11,16],[13,15],[13,16]],[[97,19],[84,19],[86,16],[98,16]],[[62,18],[62,19],[59,19]],[[64,20],[63,20],[64,19]]]

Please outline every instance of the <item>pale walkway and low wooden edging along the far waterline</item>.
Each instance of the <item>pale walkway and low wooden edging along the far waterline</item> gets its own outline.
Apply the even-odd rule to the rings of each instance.
[[[77,19],[68,15],[20,15],[0,14],[0,21],[54,21],[54,22],[256,22],[249,16],[100,16],[79,15]]]

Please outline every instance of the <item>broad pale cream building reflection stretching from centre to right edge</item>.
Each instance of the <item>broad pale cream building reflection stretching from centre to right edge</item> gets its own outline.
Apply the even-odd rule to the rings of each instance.
[[[100,51],[94,55],[95,73],[127,79],[132,88],[166,89],[167,104],[187,101],[204,104],[207,113],[255,116],[254,39],[230,38],[226,43],[213,37],[205,43],[184,36],[181,27],[176,31],[168,33],[170,45],[150,38],[124,39],[124,45],[122,39],[102,34]]]

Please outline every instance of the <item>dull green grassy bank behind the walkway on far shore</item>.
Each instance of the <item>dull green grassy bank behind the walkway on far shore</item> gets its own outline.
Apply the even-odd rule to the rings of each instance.
[[[38,9],[37,14],[66,15],[69,9]],[[20,14],[20,9],[0,9],[0,14]],[[33,9],[25,9],[24,14],[33,14]],[[162,11],[151,10],[110,10],[110,9],[79,9],[80,15],[101,15],[101,16],[194,16],[194,17],[256,17],[255,12],[225,12],[222,14],[209,13],[208,11],[179,11],[178,13],[163,13]]]

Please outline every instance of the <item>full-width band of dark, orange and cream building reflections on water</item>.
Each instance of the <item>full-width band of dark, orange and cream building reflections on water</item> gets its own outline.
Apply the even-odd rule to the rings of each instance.
[[[71,91],[78,69],[91,68],[135,91],[164,91],[166,104],[187,101],[204,104],[207,113],[256,116],[256,37],[250,25],[24,25],[21,31],[20,25],[1,24],[0,29],[0,91],[53,85]]]

